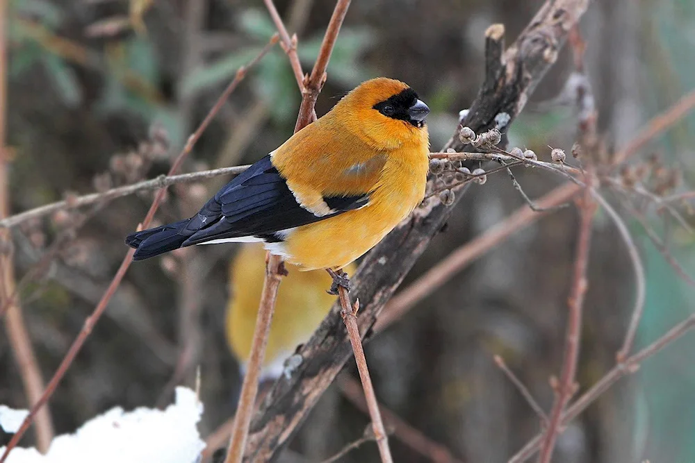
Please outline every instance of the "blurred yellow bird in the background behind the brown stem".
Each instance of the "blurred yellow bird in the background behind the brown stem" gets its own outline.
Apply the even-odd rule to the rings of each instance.
[[[261,365],[261,380],[278,378],[285,360],[306,342],[336,301],[327,294],[331,277],[322,270],[298,271],[286,264],[287,276],[278,289],[270,325],[268,344]],[[352,274],[354,264],[344,271]],[[265,250],[261,243],[244,244],[229,262],[229,299],[227,301],[226,334],[232,355],[242,373],[251,352],[256,315],[265,276]]]

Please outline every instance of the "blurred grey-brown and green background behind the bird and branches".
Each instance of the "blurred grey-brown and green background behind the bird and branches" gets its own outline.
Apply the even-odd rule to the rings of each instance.
[[[399,78],[432,108],[432,148],[450,136],[459,110],[482,81],[483,32],[502,22],[511,42],[541,1],[353,1],[318,101],[322,115],[344,92],[373,76]],[[329,1],[277,1],[299,36],[304,69],[316,57],[334,7]],[[121,185],[168,169],[240,65],[275,28],[263,2],[241,0],[10,0],[8,145],[15,212]],[[582,21],[587,71],[607,146],[632,140],[644,121],[695,87],[695,1],[596,0]],[[560,104],[571,72],[564,50],[509,134],[513,146],[550,157],[569,151],[573,108]],[[195,147],[185,170],[259,159],[292,133],[300,101],[285,54],[275,47],[254,67]],[[692,184],[693,124],[687,117],[648,146]],[[144,161],[143,161],[144,160]],[[104,175],[104,173],[107,173]],[[542,171],[518,175],[538,197],[556,185]],[[161,222],[197,210],[220,183],[174,187]],[[684,187],[684,188],[687,188]],[[612,196],[608,196],[612,199]],[[44,378],[62,359],[126,252],[123,237],[144,217],[152,193],[120,199],[90,216],[40,280],[22,292],[26,325]],[[449,228],[408,280],[523,205],[505,176],[473,186]],[[695,273],[692,235],[651,225]],[[50,217],[14,234],[19,277],[66,224]],[[694,311],[694,289],[628,219],[647,270],[639,346]],[[481,258],[366,348],[377,396],[429,437],[469,462],[503,462],[538,430],[538,420],[496,369],[505,357],[541,405],[562,355],[576,217],[571,208],[541,219]],[[181,382],[202,368],[207,435],[234,409],[238,373],[224,344],[227,262],[234,246],[204,246],[133,266],[51,401],[58,432],[70,432],[113,405],[171,400],[179,353]],[[612,367],[634,298],[632,269],[613,224],[598,217],[589,271],[578,380],[587,389]],[[648,360],[582,414],[558,441],[557,462],[695,462],[695,339]],[[348,373],[354,374],[350,363]],[[26,398],[6,337],[0,337],[0,403]],[[334,387],[291,445],[318,462],[361,435],[366,416]],[[393,440],[399,462],[427,461]],[[26,444],[29,439],[26,439]],[[288,460],[289,461],[289,460]],[[378,461],[373,446],[344,461]]]

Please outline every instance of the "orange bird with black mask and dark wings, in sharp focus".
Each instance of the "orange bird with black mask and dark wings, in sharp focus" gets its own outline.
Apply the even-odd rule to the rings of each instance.
[[[191,244],[262,241],[302,270],[341,269],[423,200],[429,112],[400,81],[366,81],[193,217],[133,233],[126,244],[142,260]]]

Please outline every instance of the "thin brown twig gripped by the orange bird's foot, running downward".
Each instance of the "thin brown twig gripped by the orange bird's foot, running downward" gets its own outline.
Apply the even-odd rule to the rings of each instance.
[[[391,449],[389,449],[389,436],[386,435],[382,414],[379,412],[377,395],[374,392],[372,378],[369,376],[367,359],[364,357],[364,349],[362,348],[362,338],[359,335],[359,328],[357,328],[359,301],[355,301],[353,306],[352,303],[350,303],[350,295],[347,294],[347,289],[342,286],[338,287],[338,296],[340,297],[343,307],[341,317],[343,317],[343,323],[345,323],[345,328],[347,328],[347,335],[350,337],[350,344],[354,352],[354,361],[357,363],[357,371],[359,371],[359,378],[362,381],[362,389],[367,401],[369,416],[372,419],[374,436],[377,441],[377,446],[379,447],[379,455],[382,458],[382,463],[393,463]]]

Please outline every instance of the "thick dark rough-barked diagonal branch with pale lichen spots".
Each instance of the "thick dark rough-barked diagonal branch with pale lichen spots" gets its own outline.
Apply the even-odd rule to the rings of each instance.
[[[503,28],[486,32],[488,60],[486,82],[468,112],[465,124],[476,133],[493,128],[498,120],[512,121],[525,106],[532,90],[557,57],[557,51],[571,27],[578,22],[588,0],[546,2],[518,40],[502,56]],[[458,129],[445,148],[462,151]],[[458,148],[458,149],[457,149]],[[442,151],[446,151],[445,149]],[[459,198],[462,195],[457,195]],[[362,302],[359,330],[365,339],[373,335],[373,325],[386,301],[400,285],[430,239],[448,218],[456,201],[443,205],[430,201],[395,228],[363,260],[352,278],[354,296]],[[299,354],[303,362],[291,378],[280,378],[252,421],[247,460],[268,461],[293,437],[306,414],[334,380],[352,351],[334,305],[313,337]]]

